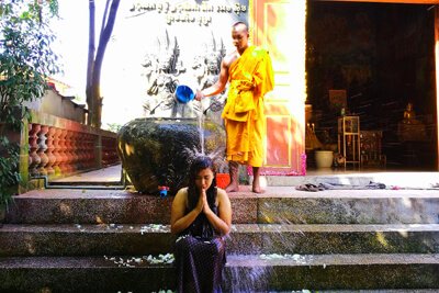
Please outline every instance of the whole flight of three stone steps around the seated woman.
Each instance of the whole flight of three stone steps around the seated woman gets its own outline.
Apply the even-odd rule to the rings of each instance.
[[[439,292],[437,190],[240,187],[229,198],[224,292]],[[172,264],[151,261],[172,251],[171,203],[124,190],[16,196],[0,228],[0,292],[172,289]]]

